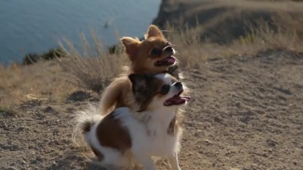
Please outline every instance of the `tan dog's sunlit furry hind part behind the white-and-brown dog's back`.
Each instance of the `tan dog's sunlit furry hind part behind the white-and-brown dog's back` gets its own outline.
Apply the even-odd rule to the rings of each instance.
[[[112,107],[122,95],[122,89],[125,88],[126,79],[128,79],[128,77],[122,76],[115,79],[105,88],[99,104],[99,113],[101,113],[101,115],[107,115],[112,111]]]

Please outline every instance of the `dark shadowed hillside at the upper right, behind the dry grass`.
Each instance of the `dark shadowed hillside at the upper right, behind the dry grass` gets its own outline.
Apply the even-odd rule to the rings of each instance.
[[[162,0],[152,23],[180,29],[198,27],[202,40],[229,43],[264,23],[296,29],[303,37],[303,2],[292,0]]]

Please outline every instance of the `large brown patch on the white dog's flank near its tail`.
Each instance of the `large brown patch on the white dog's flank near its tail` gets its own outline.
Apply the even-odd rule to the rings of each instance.
[[[104,147],[118,149],[122,154],[132,147],[129,131],[115,117],[115,112],[107,115],[97,127],[96,135]]]

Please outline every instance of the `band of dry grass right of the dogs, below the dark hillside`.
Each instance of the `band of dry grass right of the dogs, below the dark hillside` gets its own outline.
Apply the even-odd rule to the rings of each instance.
[[[303,41],[295,30],[280,27],[278,31],[274,31],[266,23],[258,28],[252,27],[249,34],[227,44],[201,41],[202,32],[199,27],[186,27],[184,31],[178,32],[168,25],[167,30],[172,30],[167,33],[168,39],[177,49],[177,58],[185,69],[199,68],[201,63],[213,59],[255,55],[268,49],[303,52]]]

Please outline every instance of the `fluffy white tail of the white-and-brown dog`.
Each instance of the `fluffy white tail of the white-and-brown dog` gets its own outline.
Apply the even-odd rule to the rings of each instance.
[[[84,111],[78,111],[72,119],[74,124],[72,139],[73,142],[77,144],[76,138],[78,136],[83,137],[83,135],[91,130],[91,127],[96,123],[99,123],[103,119],[98,112],[96,106],[89,104],[88,108]]]

